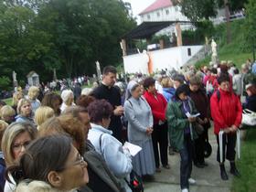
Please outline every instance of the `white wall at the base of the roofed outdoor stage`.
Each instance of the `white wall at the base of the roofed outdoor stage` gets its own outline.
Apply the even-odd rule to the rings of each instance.
[[[191,56],[187,55],[187,48],[191,49]],[[179,69],[185,65],[203,46],[183,46],[176,48],[165,48],[150,51],[153,61],[153,70]],[[145,53],[134,54],[123,57],[124,70],[126,73],[142,72],[148,73],[148,56]]]

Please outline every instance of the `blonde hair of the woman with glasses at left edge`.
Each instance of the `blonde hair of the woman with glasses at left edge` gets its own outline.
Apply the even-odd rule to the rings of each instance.
[[[19,133],[28,133],[31,139],[35,139],[37,129],[31,123],[11,123],[6,129],[2,138],[2,151],[7,166],[15,165],[16,159],[13,155],[12,145]]]

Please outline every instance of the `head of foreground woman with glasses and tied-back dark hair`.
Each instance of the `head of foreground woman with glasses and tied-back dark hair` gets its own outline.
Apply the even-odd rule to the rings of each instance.
[[[29,144],[19,165],[11,166],[7,170],[17,183],[25,179],[32,183],[43,181],[59,191],[76,189],[89,182],[87,163],[72,145],[72,139],[63,134],[38,138]],[[16,190],[27,191],[21,190],[27,187],[31,186],[21,183]]]

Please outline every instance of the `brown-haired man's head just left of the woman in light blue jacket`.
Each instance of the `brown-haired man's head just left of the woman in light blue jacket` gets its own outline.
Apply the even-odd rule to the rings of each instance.
[[[91,129],[90,116],[88,110],[81,106],[70,106],[62,112],[62,114],[70,114],[75,118],[78,118],[83,123],[85,140],[88,138],[89,130]]]

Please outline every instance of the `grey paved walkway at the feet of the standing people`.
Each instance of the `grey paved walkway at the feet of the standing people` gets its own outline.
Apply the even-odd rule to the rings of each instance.
[[[219,176],[219,163],[216,160],[217,143],[215,135],[209,130],[209,142],[212,145],[213,152],[206,159],[208,166],[197,168],[193,166],[192,177],[197,180],[197,184],[190,185],[190,192],[229,192],[233,176],[229,174],[229,162],[226,162],[226,171],[229,175],[228,181],[222,181]],[[144,183],[144,192],[180,192],[179,187],[179,154],[169,155],[169,170],[163,169],[161,173],[155,173],[155,179],[152,182]]]

